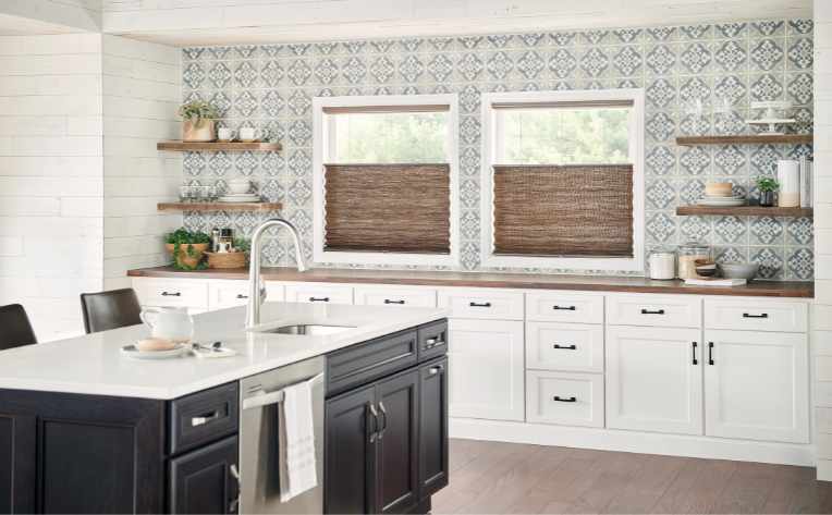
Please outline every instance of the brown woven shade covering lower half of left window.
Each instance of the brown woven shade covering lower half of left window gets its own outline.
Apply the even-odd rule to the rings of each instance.
[[[327,164],[328,250],[450,254],[448,164]]]

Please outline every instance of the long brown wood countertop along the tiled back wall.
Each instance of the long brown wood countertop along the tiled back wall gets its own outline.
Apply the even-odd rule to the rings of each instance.
[[[246,269],[184,272],[171,267],[131,270],[134,278],[247,279]],[[429,272],[412,270],[358,270],[318,268],[298,272],[292,268],[264,268],[271,281],[333,282],[352,284],[412,284],[425,286],[513,287],[522,290],[575,290],[594,292],[686,293],[694,295],[735,295],[759,297],[803,297],[815,295],[815,284],[794,281],[753,281],[745,286],[686,286],[682,281],[645,278],[555,275],[533,273]]]

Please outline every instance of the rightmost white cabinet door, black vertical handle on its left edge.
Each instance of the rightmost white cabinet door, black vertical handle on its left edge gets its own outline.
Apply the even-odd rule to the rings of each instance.
[[[808,443],[806,334],[711,330],[705,336],[713,345],[705,354],[706,434]]]

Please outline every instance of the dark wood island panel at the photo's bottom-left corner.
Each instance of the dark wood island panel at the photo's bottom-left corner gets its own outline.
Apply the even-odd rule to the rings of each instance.
[[[34,513],[37,493],[36,418],[0,413],[0,513]]]

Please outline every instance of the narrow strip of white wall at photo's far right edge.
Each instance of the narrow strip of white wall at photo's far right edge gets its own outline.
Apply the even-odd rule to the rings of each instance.
[[[815,0],[815,306],[818,479],[832,480],[832,1]]]

